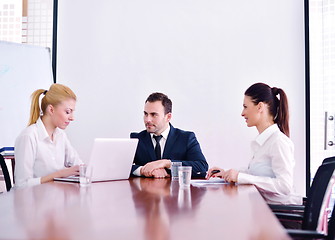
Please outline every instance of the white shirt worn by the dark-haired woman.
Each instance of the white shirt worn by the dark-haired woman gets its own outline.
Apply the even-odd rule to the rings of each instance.
[[[301,204],[293,192],[294,145],[277,124],[264,130],[251,143],[249,167],[238,174],[238,183],[254,184],[273,204]]]

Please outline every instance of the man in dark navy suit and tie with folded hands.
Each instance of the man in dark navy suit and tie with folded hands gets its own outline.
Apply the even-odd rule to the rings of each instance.
[[[146,130],[131,133],[138,138],[132,174],[135,176],[169,177],[171,162],[192,166],[192,176],[202,176],[208,164],[193,132],[174,128],[170,124],[172,102],[163,93],[152,93],[145,101],[144,124]]]

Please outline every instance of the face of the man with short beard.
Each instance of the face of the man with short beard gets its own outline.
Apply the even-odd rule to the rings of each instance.
[[[171,113],[165,114],[161,101],[146,102],[143,119],[149,133],[160,135],[168,127]]]

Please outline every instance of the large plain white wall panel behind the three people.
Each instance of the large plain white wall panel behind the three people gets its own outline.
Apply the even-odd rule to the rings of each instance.
[[[143,130],[144,101],[160,91],[211,166],[246,166],[257,131],[240,116],[243,93],[283,88],[304,194],[303,1],[59,0],[57,57],[57,82],[78,95],[67,131],[84,160],[93,138]]]

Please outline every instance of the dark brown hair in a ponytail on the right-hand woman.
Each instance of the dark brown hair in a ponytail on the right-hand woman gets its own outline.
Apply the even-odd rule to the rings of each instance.
[[[255,83],[245,91],[244,95],[251,97],[252,102],[256,105],[259,102],[266,103],[280,131],[286,136],[290,136],[288,100],[283,89],[271,88],[264,83]],[[279,98],[277,95],[279,95]]]

